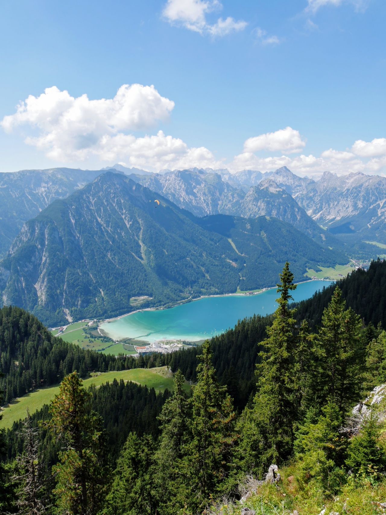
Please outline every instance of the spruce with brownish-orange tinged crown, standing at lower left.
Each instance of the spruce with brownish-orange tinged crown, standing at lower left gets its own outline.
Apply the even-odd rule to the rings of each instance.
[[[50,406],[51,433],[65,445],[56,475],[57,513],[93,515],[108,488],[101,418],[90,409],[90,394],[76,372],[64,377]]]

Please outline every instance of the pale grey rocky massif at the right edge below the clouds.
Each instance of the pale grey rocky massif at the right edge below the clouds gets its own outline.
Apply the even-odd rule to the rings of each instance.
[[[386,177],[325,172],[296,199],[331,233],[386,243]]]

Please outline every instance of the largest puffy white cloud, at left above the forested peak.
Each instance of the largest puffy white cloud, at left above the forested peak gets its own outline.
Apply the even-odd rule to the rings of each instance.
[[[120,131],[143,130],[166,121],[174,102],[162,97],[154,86],[122,85],[114,98],[77,98],[57,87],[40,96],[30,95],[5,116],[1,125],[7,132],[27,125],[37,131],[26,143],[44,150],[52,159],[85,159],[103,138]]]

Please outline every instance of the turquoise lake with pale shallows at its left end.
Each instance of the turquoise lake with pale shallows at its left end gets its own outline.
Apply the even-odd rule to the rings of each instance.
[[[307,281],[292,292],[294,301],[312,297],[315,291],[331,281]],[[276,288],[257,295],[227,295],[207,297],[166,310],[142,311],[104,322],[100,329],[111,338],[135,338],[153,342],[162,338],[198,341],[223,333],[237,320],[256,315],[267,315],[276,310]]]

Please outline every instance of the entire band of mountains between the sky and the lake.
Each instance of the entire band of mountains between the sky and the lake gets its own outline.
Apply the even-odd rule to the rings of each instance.
[[[363,174],[114,165],[4,174],[1,194],[2,304],[49,325],[272,286],[286,260],[302,281],[386,243],[386,178]]]

